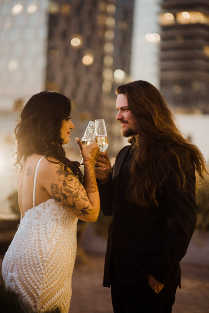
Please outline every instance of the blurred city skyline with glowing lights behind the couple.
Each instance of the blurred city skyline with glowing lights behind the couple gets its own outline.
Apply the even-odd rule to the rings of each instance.
[[[72,100],[67,151],[89,120],[104,118],[114,159],[127,139],[115,121],[118,85],[147,80],[174,112],[186,138],[209,162],[208,0],[1,0],[0,202],[16,188],[13,130],[20,110],[42,90]],[[0,212],[1,213],[1,212]]]

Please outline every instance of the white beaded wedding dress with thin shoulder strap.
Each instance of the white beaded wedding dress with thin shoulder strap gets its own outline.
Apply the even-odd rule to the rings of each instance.
[[[39,160],[39,162],[42,158]],[[25,212],[2,263],[6,288],[18,293],[25,312],[60,308],[68,313],[76,258],[78,219],[54,199]]]

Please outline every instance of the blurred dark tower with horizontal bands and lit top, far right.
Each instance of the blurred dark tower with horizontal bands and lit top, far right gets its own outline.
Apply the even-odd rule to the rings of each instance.
[[[160,90],[175,110],[209,113],[209,1],[162,0]]]

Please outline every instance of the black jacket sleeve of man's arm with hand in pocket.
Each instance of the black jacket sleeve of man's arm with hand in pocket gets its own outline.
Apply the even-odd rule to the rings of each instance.
[[[170,277],[186,254],[191,236],[196,227],[195,169],[185,170],[185,191],[178,190],[177,180],[170,174],[165,184],[167,214],[172,220],[164,248],[154,259],[150,274],[163,284]]]

